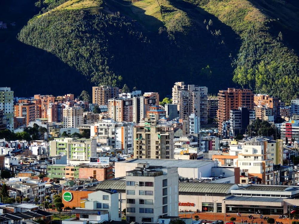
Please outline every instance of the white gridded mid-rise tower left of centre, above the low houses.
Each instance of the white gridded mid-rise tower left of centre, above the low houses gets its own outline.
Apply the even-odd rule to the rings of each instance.
[[[83,109],[77,107],[67,107],[63,109],[63,128],[79,128],[83,125]]]

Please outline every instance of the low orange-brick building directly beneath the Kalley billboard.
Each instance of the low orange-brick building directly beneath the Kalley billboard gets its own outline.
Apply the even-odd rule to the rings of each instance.
[[[79,178],[95,178],[98,181],[113,178],[112,166],[109,167],[80,167]]]

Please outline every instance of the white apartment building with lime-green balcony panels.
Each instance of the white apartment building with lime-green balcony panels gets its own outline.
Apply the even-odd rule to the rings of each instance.
[[[50,156],[65,155],[68,160],[89,160],[97,156],[96,139],[54,138]]]

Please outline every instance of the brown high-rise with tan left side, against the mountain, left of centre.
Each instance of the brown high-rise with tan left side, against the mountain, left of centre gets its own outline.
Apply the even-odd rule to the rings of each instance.
[[[119,88],[112,86],[92,87],[92,103],[97,105],[108,105],[108,100],[118,97]]]

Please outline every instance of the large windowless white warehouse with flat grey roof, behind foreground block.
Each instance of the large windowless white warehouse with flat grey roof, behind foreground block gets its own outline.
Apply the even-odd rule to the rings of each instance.
[[[150,166],[175,166],[178,168],[179,177],[188,179],[199,179],[210,177],[211,169],[217,166],[212,160],[181,160],[181,159],[128,159],[115,163],[115,177],[126,176],[126,171],[130,171],[137,166],[137,163],[149,163]]]

